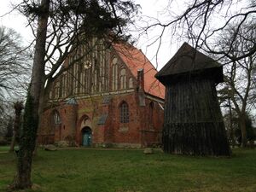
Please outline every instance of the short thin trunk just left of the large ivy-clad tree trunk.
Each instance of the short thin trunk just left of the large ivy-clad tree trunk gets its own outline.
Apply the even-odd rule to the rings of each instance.
[[[15,102],[15,125],[14,125],[14,131],[13,131],[13,137],[12,137],[12,142],[9,147],[9,152],[14,152],[15,150],[15,143],[17,141],[17,133],[20,128],[20,115],[21,111],[23,109],[23,103],[22,102]]]

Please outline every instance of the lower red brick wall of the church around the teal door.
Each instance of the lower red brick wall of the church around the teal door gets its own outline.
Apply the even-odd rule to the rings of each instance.
[[[41,135],[44,137],[44,142],[47,139],[50,140],[46,139],[45,135],[52,134],[54,130],[55,142],[72,139],[77,145],[81,145],[83,121],[89,119],[86,126],[89,126],[92,131],[94,144],[120,143],[149,146],[160,143],[163,110],[158,102],[154,102],[152,125],[149,123],[149,104],[152,101],[146,98],[146,106],[139,107],[137,92],[112,96],[111,102],[105,105],[102,104],[102,98],[103,96],[80,99],[77,101],[77,106],[65,104],[45,111],[41,124]],[[130,120],[128,123],[119,122],[119,104],[123,101],[129,105]],[[49,120],[54,110],[61,115],[61,125],[55,127]],[[108,113],[108,119],[105,125],[98,125],[98,119],[103,113]]]

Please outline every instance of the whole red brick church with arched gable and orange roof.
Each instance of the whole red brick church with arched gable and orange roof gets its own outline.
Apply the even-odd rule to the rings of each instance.
[[[90,51],[88,51],[90,49]],[[84,55],[76,61],[78,55]],[[165,87],[131,44],[96,38],[69,55],[45,95],[38,143],[141,148],[160,144]]]

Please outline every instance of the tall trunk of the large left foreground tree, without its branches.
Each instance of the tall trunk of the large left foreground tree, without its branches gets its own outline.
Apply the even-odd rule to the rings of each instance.
[[[32,80],[28,91],[24,114],[24,125],[20,137],[17,173],[11,189],[31,188],[32,154],[35,149],[38,131],[38,109],[41,89],[44,87],[44,56],[49,17],[49,0],[42,0],[38,15],[38,30],[35,45],[35,54],[32,67]]]

